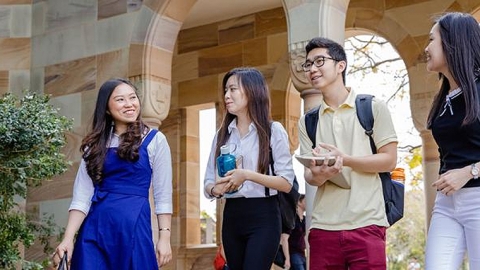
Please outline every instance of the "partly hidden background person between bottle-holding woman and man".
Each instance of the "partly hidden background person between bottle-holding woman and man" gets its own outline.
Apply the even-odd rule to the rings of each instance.
[[[288,249],[290,253],[290,269],[306,270],[307,259],[305,256],[305,195],[300,194],[297,204],[297,216],[295,228],[288,237]]]

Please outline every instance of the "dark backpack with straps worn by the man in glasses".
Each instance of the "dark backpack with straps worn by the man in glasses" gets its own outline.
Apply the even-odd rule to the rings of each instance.
[[[372,112],[372,95],[362,94],[357,95],[355,99],[355,107],[357,111],[357,118],[365,134],[370,140],[370,148],[372,153],[377,153],[377,147],[373,141],[373,112]],[[316,107],[305,114],[305,129],[307,131],[310,141],[312,141],[312,148],[316,146],[316,132],[318,125],[318,112],[320,106]],[[389,172],[378,173],[382,179],[383,198],[385,200],[385,211],[387,214],[388,223],[393,225],[395,222],[403,217],[404,192],[403,184],[392,181]]]

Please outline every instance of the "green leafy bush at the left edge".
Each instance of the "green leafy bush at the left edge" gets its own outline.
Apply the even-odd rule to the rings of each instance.
[[[35,221],[19,205],[28,187],[62,174],[69,165],[60,151],[72,121],[48,101],[48,96],[30,93],[0,99],[0,269],[14,269],[22,260],[20,244],[29,247],[52,233],[51,218]],[[23,269],[39,267],[23,262]]]

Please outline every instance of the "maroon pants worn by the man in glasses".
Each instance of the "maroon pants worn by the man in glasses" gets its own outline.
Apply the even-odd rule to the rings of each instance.
[[[385,270],[386,228],[376,225],[345,231],[311,229],[310,270]]]

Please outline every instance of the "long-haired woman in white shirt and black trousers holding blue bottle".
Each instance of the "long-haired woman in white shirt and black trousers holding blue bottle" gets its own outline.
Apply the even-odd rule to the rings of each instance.
[[[225,116],[213,139],[204,193],[208,198],[226,198],[222,243],[228,267],[269,270],[281,234],[276,194],[290,191],[294,179],[288,135],[279,122],[272,122],[268,86],[257,69],[230,70],[222,87]],[[220,177],[215,160],[223,145],[235,145],[236,156],[243,160]]]

